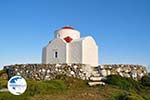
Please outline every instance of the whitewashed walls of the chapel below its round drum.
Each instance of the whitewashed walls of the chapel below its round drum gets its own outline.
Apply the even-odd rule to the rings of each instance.
[[[54,53],[58,52],[58,58]],[[42,63],[80,63],[92,66],[98,65],[98,47],[92,37],[85,37],[66,43],[60,38],[56,38],[43,48]]]

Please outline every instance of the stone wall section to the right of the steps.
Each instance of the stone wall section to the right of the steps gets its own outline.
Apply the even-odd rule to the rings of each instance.
[[[100,65],[99,73],[103,77],[108,75],[120,75],[122,77],[130,77],[135,80],[139,80],[144,75],[148,74],[145,66],[132,64]]]

